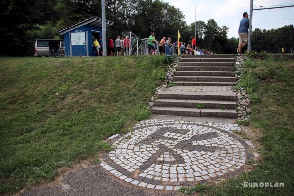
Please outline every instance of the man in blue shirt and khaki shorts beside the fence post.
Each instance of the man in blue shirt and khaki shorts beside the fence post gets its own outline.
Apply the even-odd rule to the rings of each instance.
[[[248,29],[249,29],[249,15],[247,12],[243,13],[238,29],[239,45],[237,48],[238,55],[242,55],[241,49],[247,45],[248,42]]]

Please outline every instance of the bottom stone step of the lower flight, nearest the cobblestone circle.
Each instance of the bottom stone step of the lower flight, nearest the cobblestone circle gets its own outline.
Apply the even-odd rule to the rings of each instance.
[[[151,108],[153,114],[177,115],[193,117],[217,117],[217,118],[237,118],[236,110],[221,109],[197,109],[184,107],[158,107]]]

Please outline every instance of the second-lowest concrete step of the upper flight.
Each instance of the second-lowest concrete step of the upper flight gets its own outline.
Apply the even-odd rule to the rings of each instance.
[[[175,76],[174,81],[197,81],[197,82],[236,82],[236,77],[229,76]]]

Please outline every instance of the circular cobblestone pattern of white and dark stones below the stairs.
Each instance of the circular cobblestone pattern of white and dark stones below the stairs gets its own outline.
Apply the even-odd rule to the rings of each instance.
[[[171,120],[141,121],[134,131],[107,139],[114,151],[103,166],[126,182],[159,190],[178,190],[197,181],[240,172],[253,147],[239,138],[237,124]]]

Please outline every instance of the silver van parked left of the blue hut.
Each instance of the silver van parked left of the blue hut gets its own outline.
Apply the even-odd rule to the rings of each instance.
[[[50,51],[57,51],[60,47],[64,50],[63,39],[37,39],[34,49],[35,56],[50,56]]]

